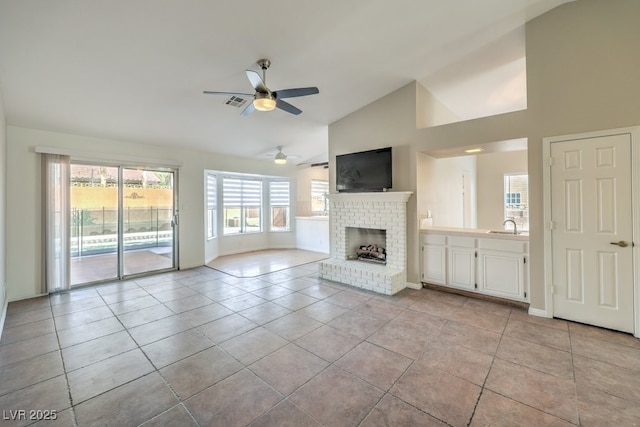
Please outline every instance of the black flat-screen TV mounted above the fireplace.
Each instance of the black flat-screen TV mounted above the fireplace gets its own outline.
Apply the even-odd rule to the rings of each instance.
[[[391,147],[336,156],[338,192],[389,190],[391,172]]]

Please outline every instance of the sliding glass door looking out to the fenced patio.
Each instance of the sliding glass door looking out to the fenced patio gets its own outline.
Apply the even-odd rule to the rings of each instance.
[[[175,268],[175,172],[71,165],[71,285]]]

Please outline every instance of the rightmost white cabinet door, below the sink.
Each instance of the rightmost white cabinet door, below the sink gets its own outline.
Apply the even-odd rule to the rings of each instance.
[[[523,254],[478,251],[478,287],[483,293],[524,300]]]

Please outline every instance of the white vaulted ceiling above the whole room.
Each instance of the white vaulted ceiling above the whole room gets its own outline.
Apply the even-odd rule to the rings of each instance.
[[[526,106],[523,24],[568,0],[0,0],[10,125],[215,153],[326,159],[328,125],[418,80],[461,118]],[[245,69],[317,86],[241,117]],[[472,142],[470,142],[472,143]]]

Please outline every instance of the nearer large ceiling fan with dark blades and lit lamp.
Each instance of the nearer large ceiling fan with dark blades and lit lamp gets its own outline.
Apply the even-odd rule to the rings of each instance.
[[[251,83],[251,86],[255,89],[255,93],[242,93],[242,92],[214,92],[205,90],[207,95],[235,95],[249,97],[253,96],[253,102],[245,107],[240,113],[241,116],[247,116],[254,110],[258,111],[271,111],[275,108],[286,111],[287,113],[298,115],[302,113],[302,110],[283,101],[284,98],[296,98],[299,96],[315,95],[320,93],[317,87],[299,87],[293,89],[282,89],[277,91],[271,91],[266,85],[266,72],[271,61],[268,59],[260,59],[257,64],[262,69],[262,77],[260,74],[253,70],[246,70],[247,78]]]

